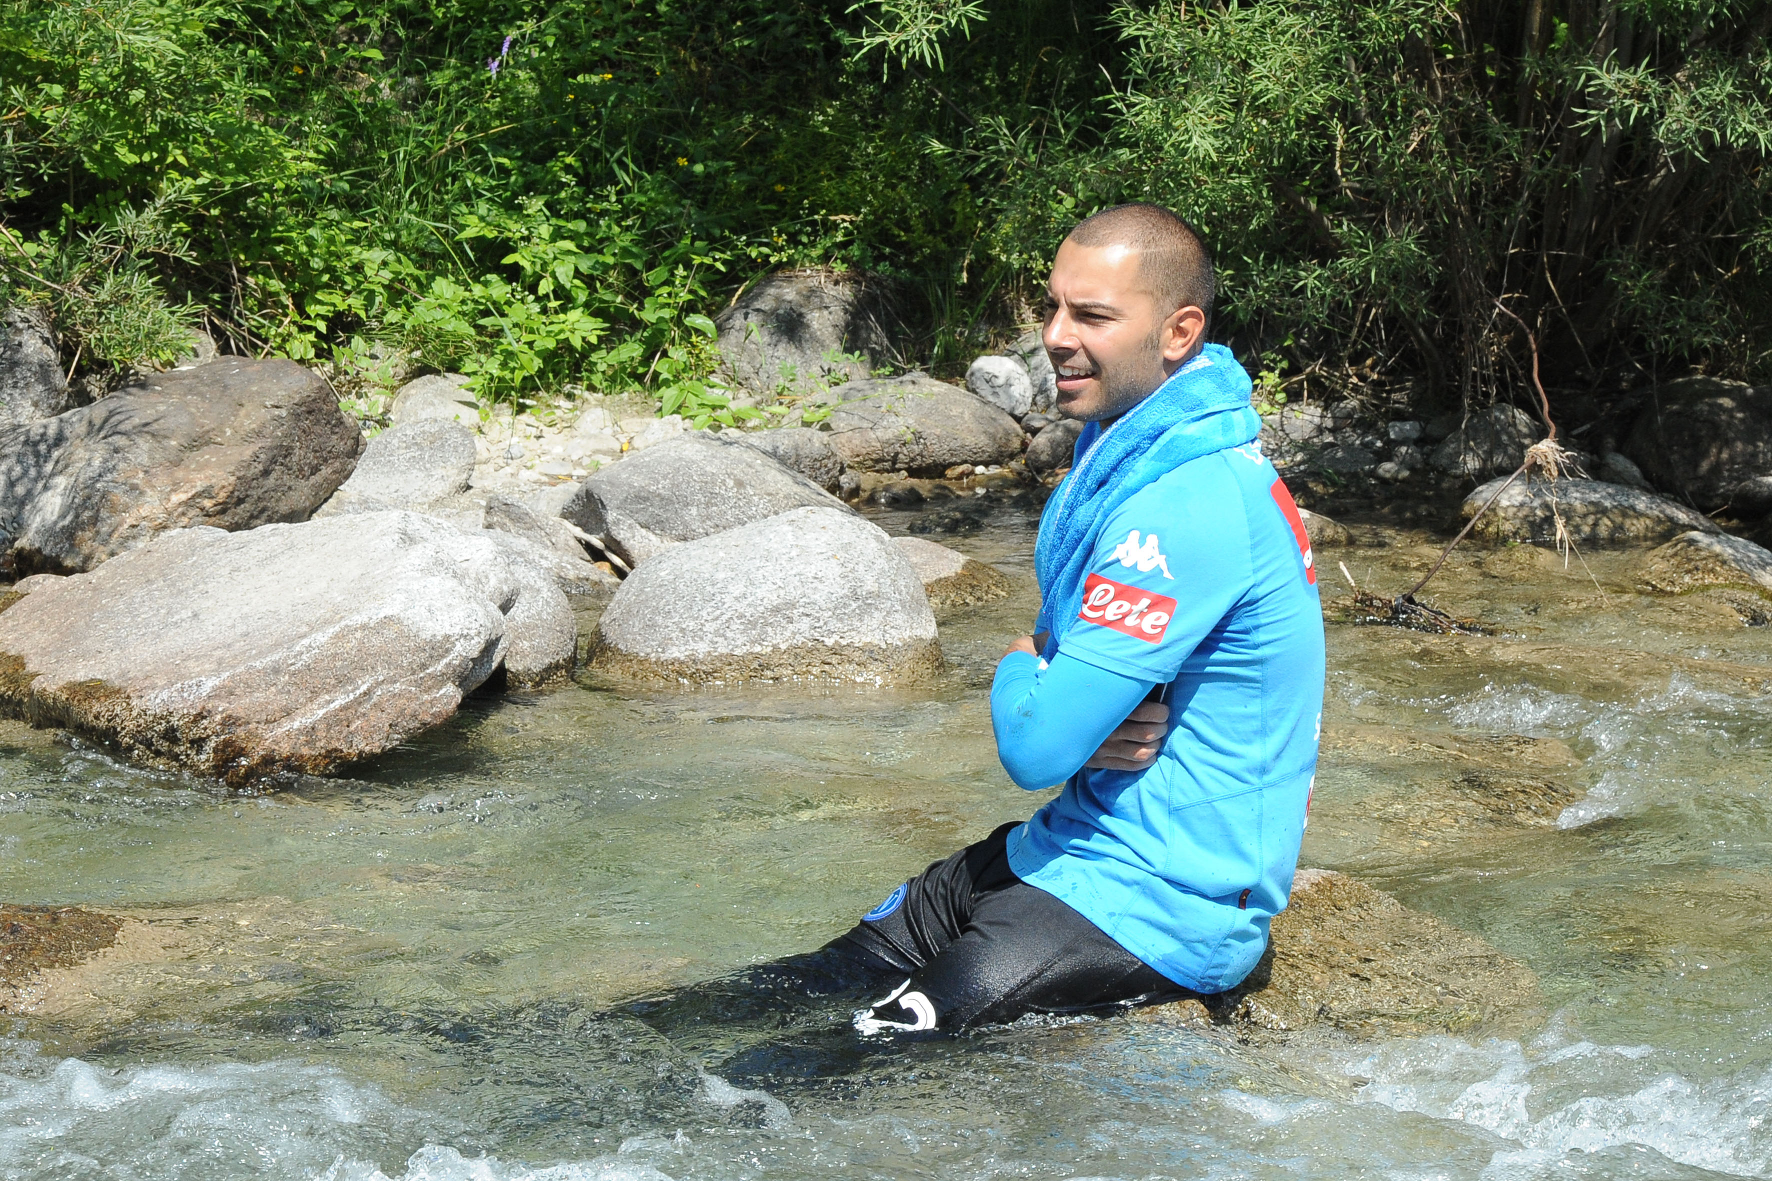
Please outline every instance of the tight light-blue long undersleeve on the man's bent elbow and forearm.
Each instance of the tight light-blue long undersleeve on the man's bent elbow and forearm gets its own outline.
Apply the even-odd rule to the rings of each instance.
[[[1063,652],[1051,664],[1026,652],[1008,653],[991,685],[991,726],[1003,770],[1030,791],[1070,779],[1152,685]]]

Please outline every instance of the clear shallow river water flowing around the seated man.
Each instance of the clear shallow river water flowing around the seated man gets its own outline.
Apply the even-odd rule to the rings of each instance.
[[[985,705],[1033,519],[973,524],[939,540],[1017,593],[946,621],[914,691],[480,698],[266,797],[0,728],[0,899],[136,919],[0,1016],[0,1177],[1772,1174],[1772,629],[1636,595],[1632,556],[1457,556],[1437,600],[1487,637],[1329,627],[1304,862],[1529,965],[1520,1039],[643,1020],[1044,799]],[[1363,540],[1320,552],[1329,597],[1338,561],[1395,591],[1434,552]],[[1513,772],[1549,813],[1473,811]]]

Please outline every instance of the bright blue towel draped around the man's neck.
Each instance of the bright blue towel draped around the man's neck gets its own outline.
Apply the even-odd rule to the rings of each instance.
[[[1040,515],[1033,549],[1040,579],[1035,630],[1051,634],[1047,657],[1077,621],[1083,583],[1113,510],[1189,460],[1253,441],[1262,420],[1249,405],[1251,390],[1235,354],[1207,345],[1108,430],[1100,423],[1083,428],[1077,459]]]

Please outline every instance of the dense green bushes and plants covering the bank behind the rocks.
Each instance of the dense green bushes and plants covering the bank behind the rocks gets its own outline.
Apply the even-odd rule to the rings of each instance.
[[[907,361],[1159,200],[1269,405],[1772,354],[1767,0],[0,0],[0,297],[89,367],[388,358],[741,423],[712,317],[879,271]],[[7,294],[9,292],[9,294]],[[789,413],[817,414],[789,405]]]

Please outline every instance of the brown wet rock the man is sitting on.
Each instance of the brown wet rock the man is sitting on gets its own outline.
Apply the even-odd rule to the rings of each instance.
[[[1146,1020],[1361,1038],[1520,1030],[1542,1016],[1533,972],[1481,938],[1329,869],[1299,869],[1269,951],[1237,988]],[[1193,1018],[1193,1020],[1191,1020]]]

